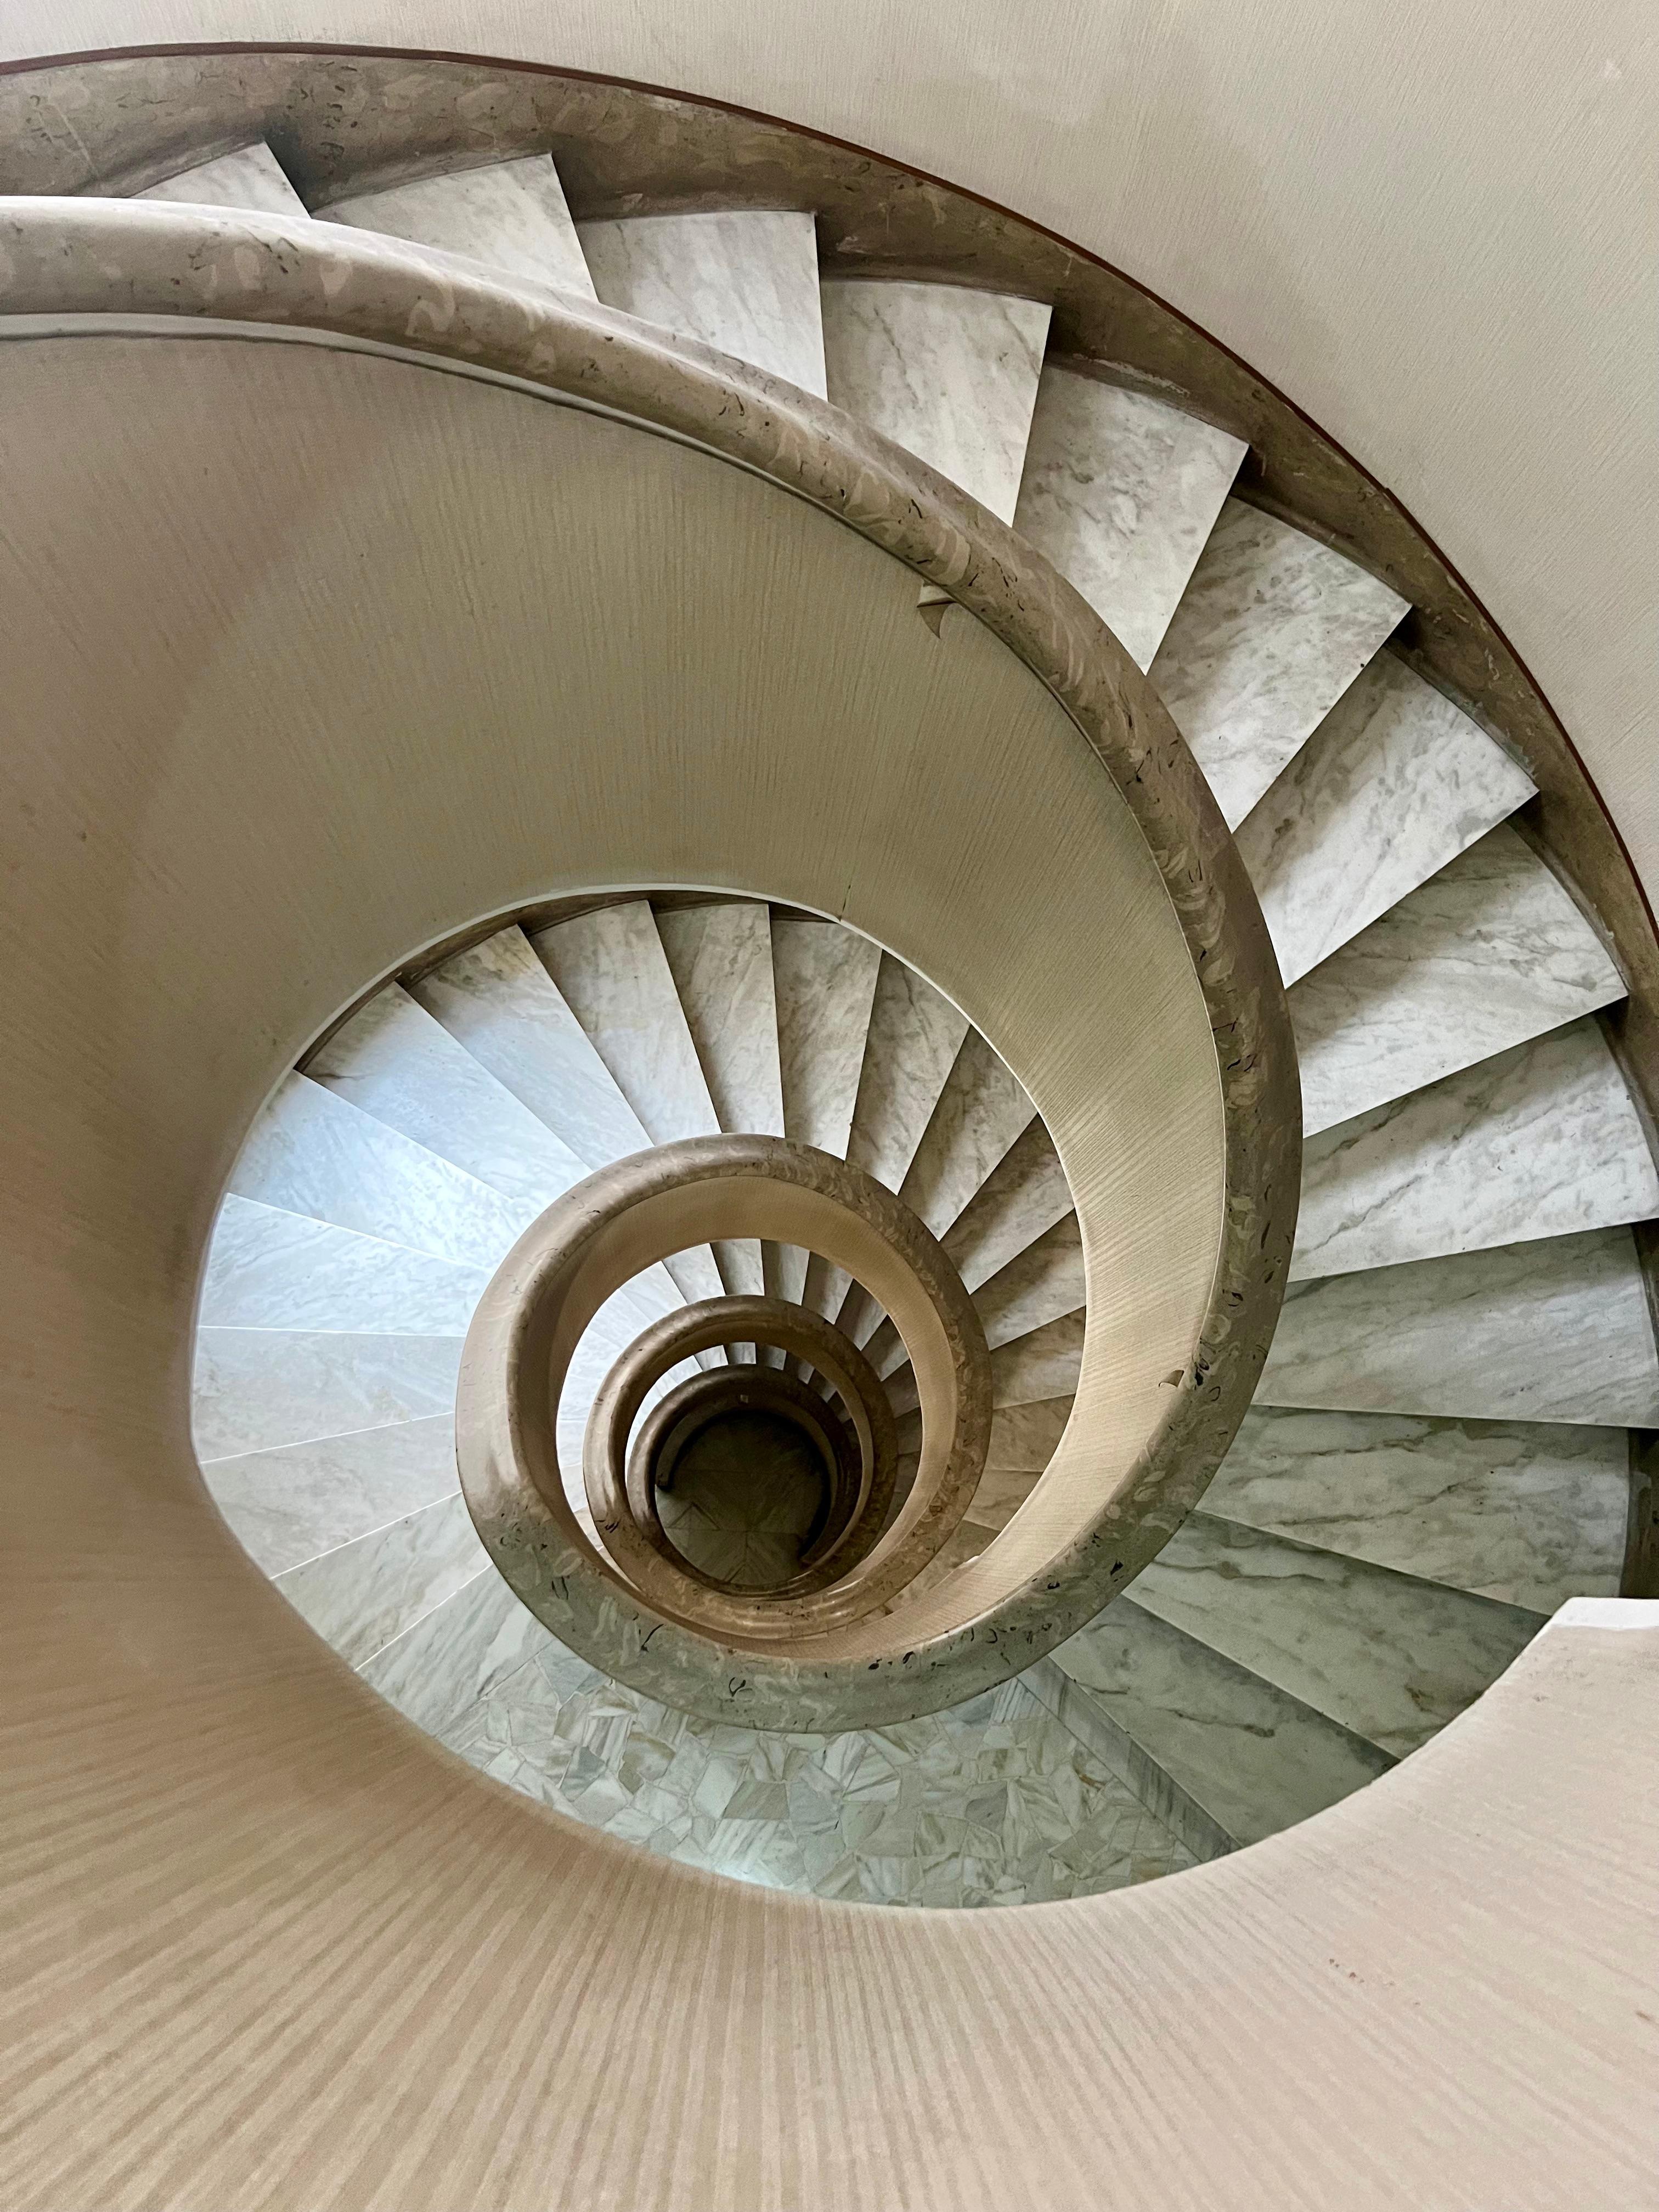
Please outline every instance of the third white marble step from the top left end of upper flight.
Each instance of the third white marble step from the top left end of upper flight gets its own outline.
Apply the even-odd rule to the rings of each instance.
[[[628,215],[580,223],[577,232],[606,307],[701,338],[825,398],[812,215]]]

